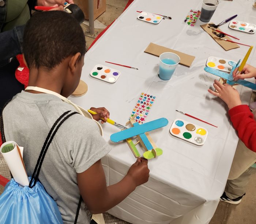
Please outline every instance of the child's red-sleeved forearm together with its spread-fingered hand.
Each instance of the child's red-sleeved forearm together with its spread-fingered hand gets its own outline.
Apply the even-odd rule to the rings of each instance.
[[[238,91],[232,86],[228,84],[222,85],[217,80],[214,80],[213,86],[219,93],[210,89],[208,89],[208,92],[221,98],[227,104],[230,119],[238,132],[238,137],[247,148],[256,152],[256,121],[253,119],[253,114],[249,107],[242,105]]]

